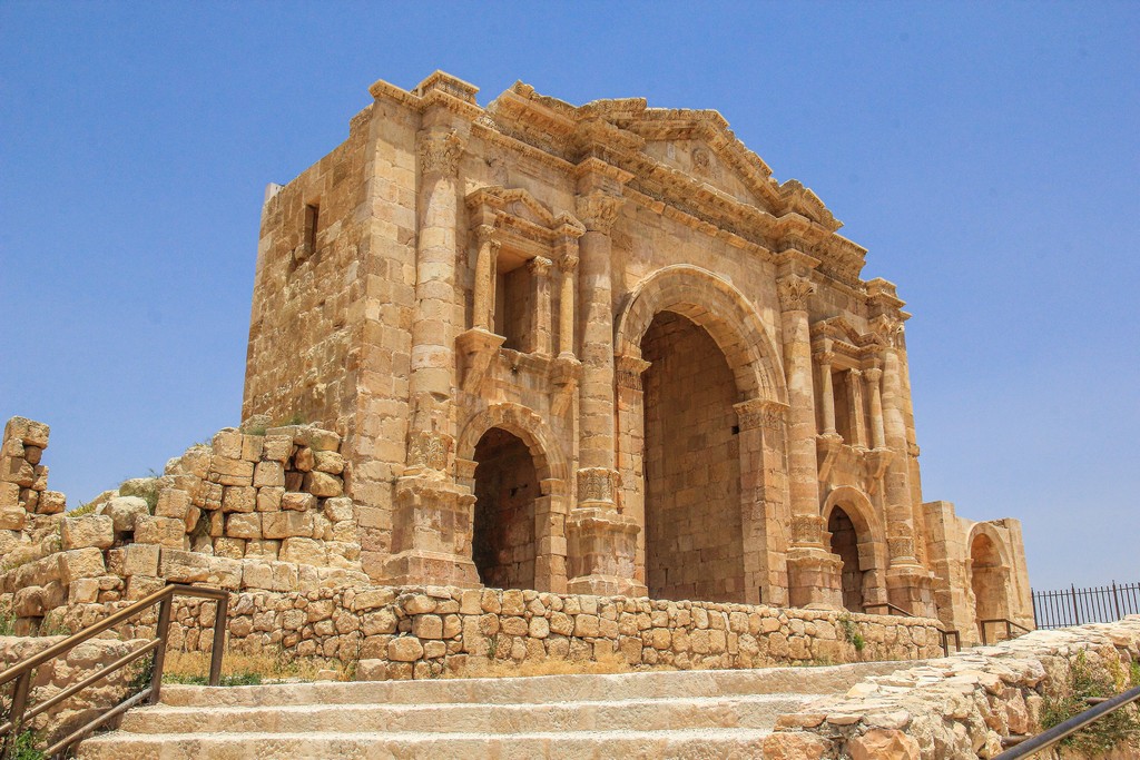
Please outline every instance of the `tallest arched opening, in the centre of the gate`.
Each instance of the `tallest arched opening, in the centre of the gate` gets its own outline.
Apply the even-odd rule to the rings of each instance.
[[[735,378],[703,327],[645,330],[645,583],[652,598],[744,600]]]

